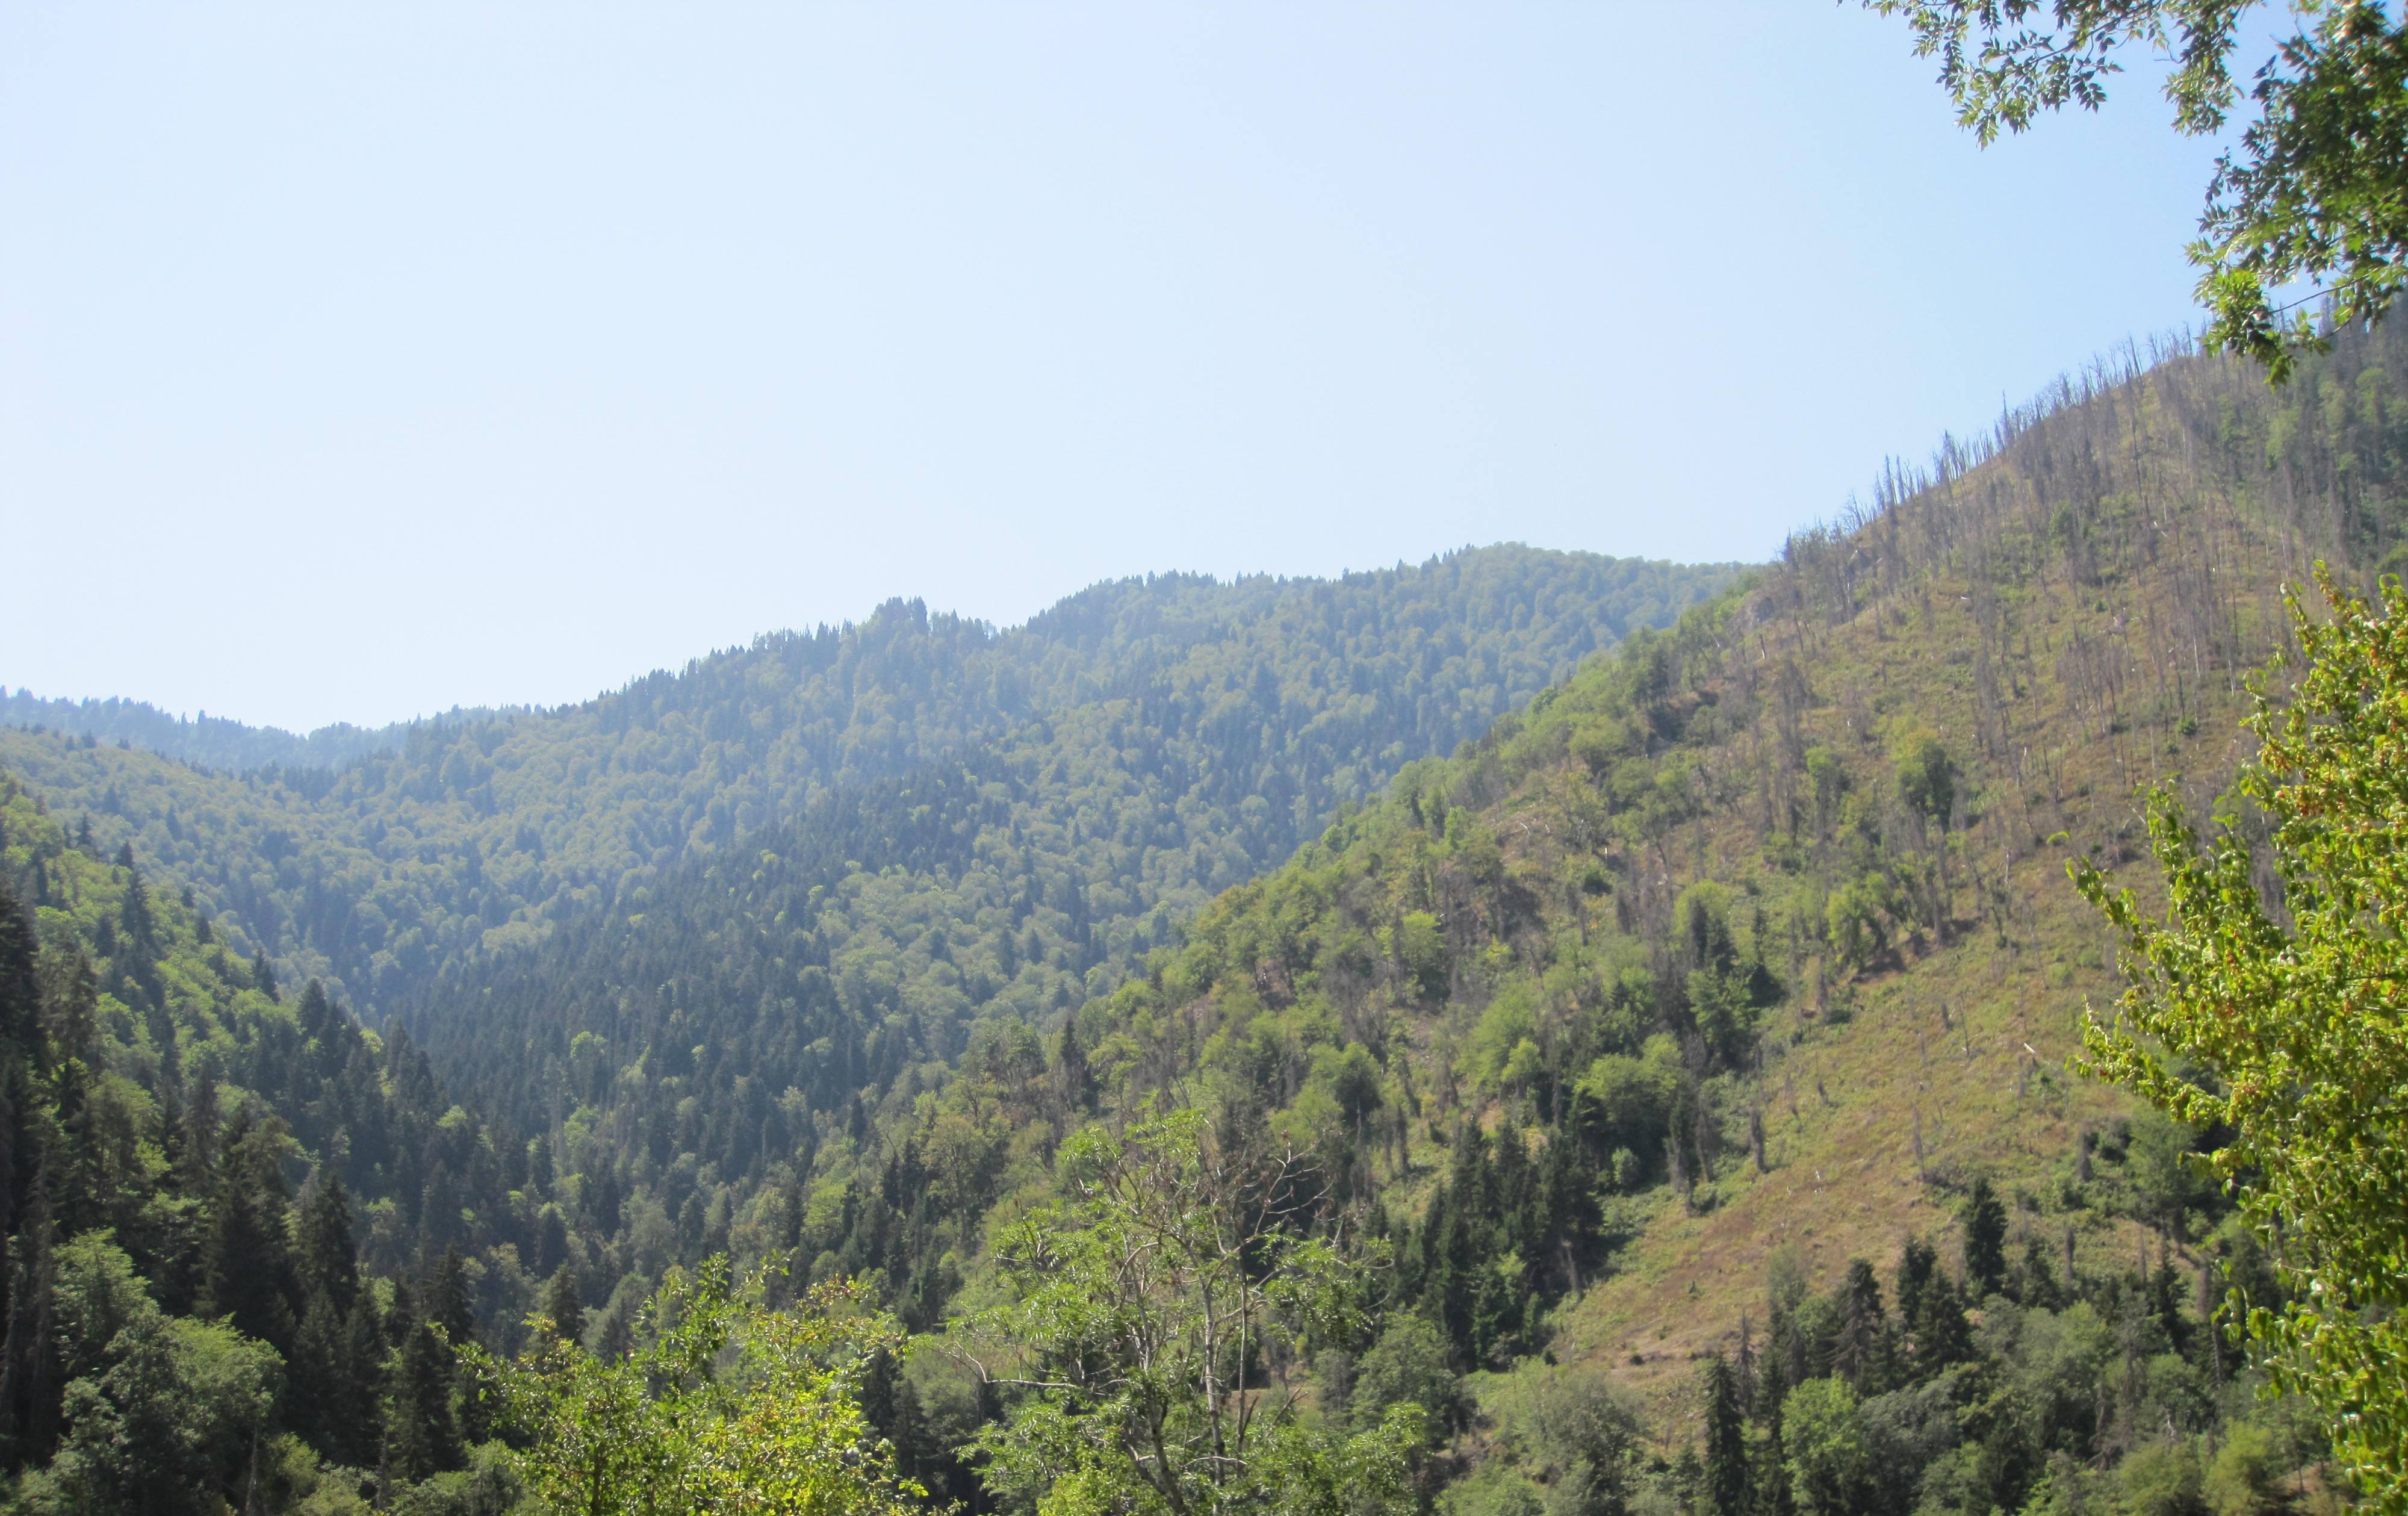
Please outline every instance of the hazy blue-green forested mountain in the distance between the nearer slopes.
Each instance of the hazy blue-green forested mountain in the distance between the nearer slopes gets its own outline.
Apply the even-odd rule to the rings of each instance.
[[[344,770],[55,732],[0,758],[236,958],[431,1040],[450,1095],[421,1097],[477,1114],[378,1179],[371,1259],[460,1249],[508,1328],[563,1261],[602,1304],[696,1256],[978,1020],[1086,999],[1397,763],[1727,578],[1491,549],[1127,580],[1002,635],[898,604]]]

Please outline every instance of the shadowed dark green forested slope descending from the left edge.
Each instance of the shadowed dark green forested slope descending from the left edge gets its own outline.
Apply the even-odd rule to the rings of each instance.
[[[532,1230],[530,1194],[407,1040],[279,994],[0,777],[10,1509],[352,1511],[371,1470],[405,1497],[458,1465],[453,1343],[494,1275],[419,1254],[421,1203]]]

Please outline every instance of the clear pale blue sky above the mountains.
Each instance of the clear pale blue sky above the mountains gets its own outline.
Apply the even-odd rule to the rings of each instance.
[[[0,683],[380,722],[889,594],[1763,558],[2191,320],[2208,156],[2146,79],[1979,152],[1825,0],[17,0]]]

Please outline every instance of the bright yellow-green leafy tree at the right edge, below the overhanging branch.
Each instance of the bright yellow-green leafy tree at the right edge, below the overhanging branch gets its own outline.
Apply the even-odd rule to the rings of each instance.
[[[2273,1386],[2314,1400],[2382,1511],[2408,1511],[2408,592],[2382,611],[2319,565],[2331,621],[2288,602],[2302,676],[2256,686],[2242,792],[2271,823],[2280,905],[2237,821],[2201,840],[2172,789],[2148,809],[2170,917],[2085,861],[2131,989],[2083,1030],[2085,1066],[2177,1121],[2227,1124],[2215,1174],[2292,1299],[2249,1309]],[[2179,1064],[2213,1076],[2184,1078]]]

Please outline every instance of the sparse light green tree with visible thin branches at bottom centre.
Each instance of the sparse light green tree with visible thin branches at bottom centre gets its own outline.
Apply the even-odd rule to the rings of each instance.
[[[954,1350],[1019,1405],[978,1446],[1047,1516],[1404,1509],[1421,1405],[1353,1437],[1305,1415],[1312,1338],[1363,1326],[1361,1273],[1293,1225],[1310,1172],[1230,1153],[1199,1112],[1088,1126],[1067,1201],[997,1234],[1009,1304]]]

